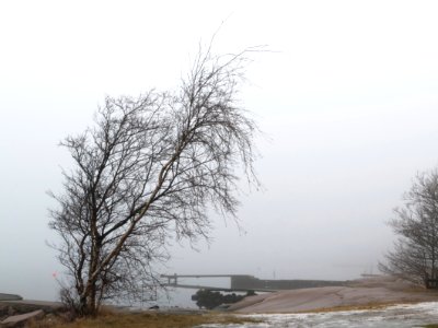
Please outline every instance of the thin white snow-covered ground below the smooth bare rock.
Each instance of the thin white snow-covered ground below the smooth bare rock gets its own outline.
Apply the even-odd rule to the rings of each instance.
[[[396,305],[385,309],[312,314],[241,315],[261,319],[261,324],[203,325],[203,328],[411,328],[438,323],[438,302]]]

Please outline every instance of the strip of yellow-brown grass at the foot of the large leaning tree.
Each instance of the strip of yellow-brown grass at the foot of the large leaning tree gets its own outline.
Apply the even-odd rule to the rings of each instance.
[[[104,314],[68,323],[61,316],[48,316],[30,323],[28,328],[192,328],[203,324],[243,324],[261,320],[224,314]]]

